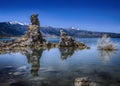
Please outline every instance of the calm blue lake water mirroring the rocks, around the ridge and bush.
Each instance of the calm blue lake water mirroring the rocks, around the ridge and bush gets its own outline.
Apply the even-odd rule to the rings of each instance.
[[[81,77],[89,77],[91,86],[120,86],[120,46],[118,51],[100,51],[97,38],[76,40],[91,48],[28,48],[1,53],[0,86],[75,86],[75,79]],[[112,40],[120,43],[119,38]]]

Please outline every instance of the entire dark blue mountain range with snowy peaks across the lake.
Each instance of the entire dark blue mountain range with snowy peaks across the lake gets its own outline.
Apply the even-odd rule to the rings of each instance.
[[[0,23],[0,36],[21,36],[27,31],[27,25],[22,23],[1,22]],[[64,30],[72,37],[101,37],[103,34],[108,34],[110,37],[119,38],[119,33],[95,32],[87,30],[79,30],[73,28],[54,28],[54,27],[41,27],[43,36],[59,37],[60,30]]]

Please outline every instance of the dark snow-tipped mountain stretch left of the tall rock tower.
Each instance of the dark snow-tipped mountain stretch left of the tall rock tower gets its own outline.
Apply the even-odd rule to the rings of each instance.
[[[11,22],[0,23],[0,36],[21,36],[25,34],[27,25]]]

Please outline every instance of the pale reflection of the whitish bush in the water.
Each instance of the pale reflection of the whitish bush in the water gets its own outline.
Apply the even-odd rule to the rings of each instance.
[[[116,50],[99,50],[98,58],[100,58],[104,64],[106,64],[110,58],[117,54]]]

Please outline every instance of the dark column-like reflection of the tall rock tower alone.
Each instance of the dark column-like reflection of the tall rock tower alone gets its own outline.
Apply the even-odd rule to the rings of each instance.
[[[22,52],[30,63],[31,66],[31,74],[33,76],[38,76],[38,71],[40,68],[40,58],[43,53],[43,49],[27,49],[26,52]]]

